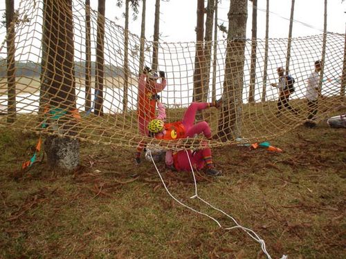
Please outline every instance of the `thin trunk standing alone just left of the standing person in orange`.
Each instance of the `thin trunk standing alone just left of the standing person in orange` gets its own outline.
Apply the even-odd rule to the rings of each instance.
[[[124,41],[124,93],[122,112],[127,112],[127,91],[129,88],[129,0],[125,0],[125,41]]]

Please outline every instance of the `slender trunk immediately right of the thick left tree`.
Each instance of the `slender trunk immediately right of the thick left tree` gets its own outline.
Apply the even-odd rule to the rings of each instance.
[[[85,0],[85,111],[91,109],[91,21],[90,0]]]

